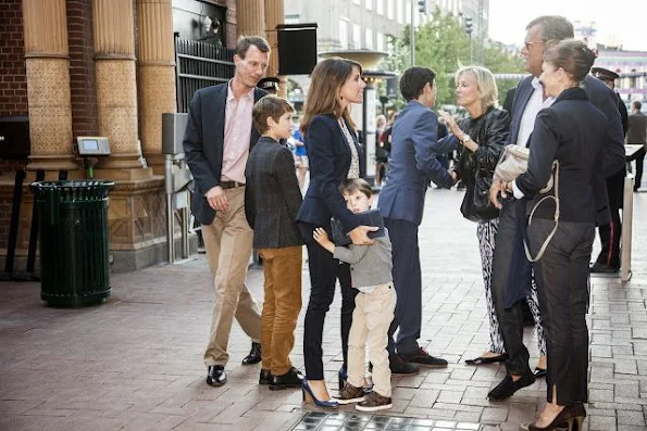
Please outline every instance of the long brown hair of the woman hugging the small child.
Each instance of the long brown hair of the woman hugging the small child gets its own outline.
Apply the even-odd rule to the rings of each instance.
[[[339,105],[339,90],[346,80],[352,75],[353,68],[362,73],[362,66],[353,60],[333,56],[314,66],[311,75],[310,89],[303,109],[301,131],[306,132],[308,125],[318,114],[333,114],[337,118],[344,117],[346,123],[356,129],[354,122],[350,117],[350,104],[341,112]]]

